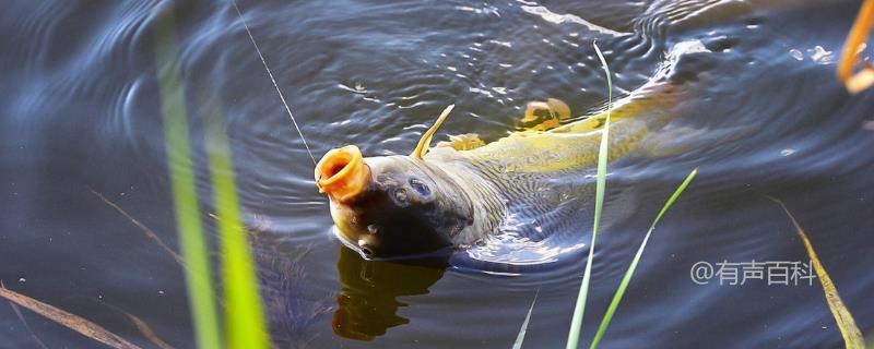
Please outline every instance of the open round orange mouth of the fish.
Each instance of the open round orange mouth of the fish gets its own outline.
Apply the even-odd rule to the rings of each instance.
[[[331,149],[316,165],[316,185],[335,202],[349,202],[370,182],[370,168],[355,145]]]

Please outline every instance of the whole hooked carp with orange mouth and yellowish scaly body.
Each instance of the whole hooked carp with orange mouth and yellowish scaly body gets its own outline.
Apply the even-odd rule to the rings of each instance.
[[[648,83],[612,106],[610,159],[671,119],[676,87]],[[366,258],[385,258],[458,251],[501,234],[540,241],[571,230],[570,216],[593,197],[593,182],[583,178],[594,172],[606,110],[491,143],[428,148],[449,110],[413,155],[364,158],[347,146],[319,163],[317,183],[331,197],[341,241]]]

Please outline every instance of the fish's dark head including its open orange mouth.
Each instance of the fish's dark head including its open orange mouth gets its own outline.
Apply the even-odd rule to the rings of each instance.
[[[328,152],[316,166],[336,234],[367,260],[449,251],[473,221],[473,206],[445,169],[417,156],[364,158],[354,145]]]

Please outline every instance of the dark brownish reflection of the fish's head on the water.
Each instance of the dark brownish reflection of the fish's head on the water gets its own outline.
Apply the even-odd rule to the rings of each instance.
[[[352,339],[371,340],[391,327],[410,323],[398,315],[406,306],[399,297],[428,292],[446,270],[444,261],[366,261],[358,253],[340,248],[336,272],[343,289],[336,297],[334,333]]]

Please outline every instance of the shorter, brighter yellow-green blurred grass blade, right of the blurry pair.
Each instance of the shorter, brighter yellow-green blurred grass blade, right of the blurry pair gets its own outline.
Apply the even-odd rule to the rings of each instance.
[[[268,332],[246,230],[239,216],[231,147],[222,122],[211,120],[209,164],[222,237],[225,329],[228,348],[267,348]]]

